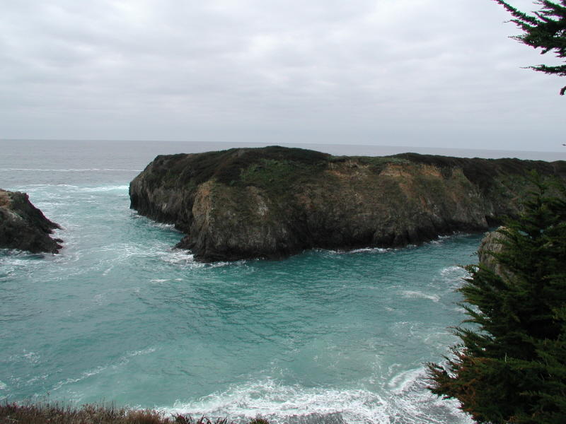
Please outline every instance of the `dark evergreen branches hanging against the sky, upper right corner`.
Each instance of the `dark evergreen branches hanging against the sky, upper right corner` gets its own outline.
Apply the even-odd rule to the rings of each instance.
[[[541,47],[541,54],[553,51],[559,58],[566,57],[566,0],[534,1],[535,4],[541,6],[541,10],[534,12],[533,15],[518,11],[507,1],[495,1],[514,16],[511,21],[524,31],[524,34],[512,38],[535,49]],[[566,76],[566,65],[537,65],[529,66],[529,68],[544,73]],[[565,92],[566,86],[562,87],[560,95],[564,95]]]

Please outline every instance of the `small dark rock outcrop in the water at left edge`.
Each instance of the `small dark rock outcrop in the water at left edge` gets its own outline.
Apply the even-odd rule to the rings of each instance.
[[[31,204],[28,194],[0,189],[0,248],[57,253],[62,240],[52,239],[59,225]]]

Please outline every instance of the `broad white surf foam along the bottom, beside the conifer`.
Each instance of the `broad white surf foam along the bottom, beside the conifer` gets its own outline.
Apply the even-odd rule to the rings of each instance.
[[[367,389],[324,389],[289,386],[265,379],[230,387],[197,401],[176,401],[167,414],[190,414],[229,420],[267,418],[270,423],[343,422],[348,424],[468,424],[454,402],[439,401],[422,382],[424,368],[393,377],[393,390],[377,394]]]

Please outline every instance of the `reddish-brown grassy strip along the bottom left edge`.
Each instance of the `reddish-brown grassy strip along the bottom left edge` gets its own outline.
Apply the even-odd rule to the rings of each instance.
[[[116,408],[84,405],[81,408],[60,404],[0,404],[0,424],[228,424],[227,418],[211,421],[190,415],[166,416],[154,409]],[[232,423],[230,423],[232,424]],[[254,418],[249,424],[269,424]]]

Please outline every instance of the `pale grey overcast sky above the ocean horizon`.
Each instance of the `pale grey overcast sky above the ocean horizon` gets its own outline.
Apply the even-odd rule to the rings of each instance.
[[[508,19],[491,0],[0,0],[0,139],[563,151],[566,81],[521,69],[557,59]]]

